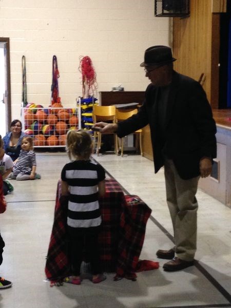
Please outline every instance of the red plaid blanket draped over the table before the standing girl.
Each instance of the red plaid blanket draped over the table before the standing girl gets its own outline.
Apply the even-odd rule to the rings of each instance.
[[[68,275],[67,243],[64,208],[59,202],[60,182],[57,187],[54,222],[48,247],[45,273],[49,280],[61,280]],[[139,199],[129,202],[114,179],[106,180],[106,195],[100,200],[102,230],[99,235],[104,272],[116,272],[118,277],[133,277],[141,253],[145,226],[150,208]]]

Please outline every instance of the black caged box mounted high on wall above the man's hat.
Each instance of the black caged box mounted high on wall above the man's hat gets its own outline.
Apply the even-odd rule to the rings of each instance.
[[[156,17],[188,17],[189,0],[155,0]]]

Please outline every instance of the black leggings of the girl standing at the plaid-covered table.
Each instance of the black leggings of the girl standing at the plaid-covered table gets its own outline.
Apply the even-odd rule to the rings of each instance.
[[[102,272],[98,241],[99,230],[100,227],[72,228],[68,226],[70,240],[68,250],[72,275],[80,275],[80,267],[84,256],[91,264],[93,275]]]

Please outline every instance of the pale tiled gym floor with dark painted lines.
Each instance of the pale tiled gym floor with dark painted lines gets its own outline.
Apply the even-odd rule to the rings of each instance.
[[[41,180],[16,182],[7,196],[1,234],[6,242],[0,275],[13,282],[0,293],[0,308],[231,307],[231,209],[198,191],[198,264],[177,273],[162,269],[159,248],[172,245],[165,202],[163,170],[141,156],[93,156],[129,194],[152,209],[141,259],[160,262],[154,271],[138,273],[136,282],[107,280],[94,285],[50,287],[44,267],[54,214],[57,180],[68,161],[64,152],[38,152]]]

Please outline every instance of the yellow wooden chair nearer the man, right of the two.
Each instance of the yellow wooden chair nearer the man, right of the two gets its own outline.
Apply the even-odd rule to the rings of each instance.
[[[130,118],[133,114],[136,114],[138,112],[137,109],[133,109],[130,111],[127,110],[119,110],[116,109],[115,110],[115,122],[118,123],[120,121],[126,120],[128,118]],[[140,141],[140,155],[143,156],[143,150],[142,150],[142,129],[138,129],[136,131],[134,131],[134,133],[136,135],[139,135],[139,141]],[[136,144],[137,144],[137,140],[136,140]],[[119,153],[119,149],[121,149],[121,156],[124,155],[124,142],[123,142],[123,138],[121,138],[121,147],[119,145],[119,138],[117,137],[117,155]]]

